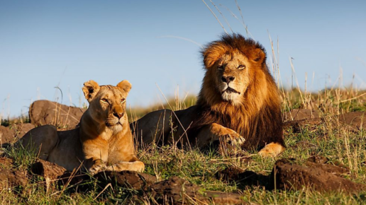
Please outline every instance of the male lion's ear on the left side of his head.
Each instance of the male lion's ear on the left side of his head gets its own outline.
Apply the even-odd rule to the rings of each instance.
[[[225,49],[223,48],[223,45],[214,43],[207,46],[202,51],[202,55],[204,57],[204,66],[206,67],[206,69],[209,69],[211,66],[213,66],[224,53]]]

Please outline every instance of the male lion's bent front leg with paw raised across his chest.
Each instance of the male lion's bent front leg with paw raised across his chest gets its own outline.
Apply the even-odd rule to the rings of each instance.
[[[243,136],[236,131],[217,123],[206,125],[196,136],[196,143],[199,147],[209,145],[211,142],[218,140],[226,141],[228,144],[238,144],[239,146],[245,142]]]

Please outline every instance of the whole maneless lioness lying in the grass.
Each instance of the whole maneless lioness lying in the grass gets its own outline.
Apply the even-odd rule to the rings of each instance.
[[[131,83],[121,81],[117,86],[99,86],[95,81],[87,81],[82,90],[89,108],[82,115],[79,127],[68,131],[57,131],[51,125],[37,127],[21,139],[21,145],[40,148],[41,159],[67,170],[82,164],[91,175],[99,170],[142,172],[145,165],[135,156],[126,115]]]

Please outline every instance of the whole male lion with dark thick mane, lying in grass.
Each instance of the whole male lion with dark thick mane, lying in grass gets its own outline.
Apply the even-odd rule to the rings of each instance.
[[[196,105],[150,112],[131,124],[138,140],[196,144],[236,142],[261,148],[261,156],[284,151],[281,99],[266,65],[265,49],[242,35],[223,35],[201,52],[206,74]]]

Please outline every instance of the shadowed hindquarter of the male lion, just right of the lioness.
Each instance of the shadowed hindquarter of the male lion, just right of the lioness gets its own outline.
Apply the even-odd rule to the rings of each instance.
[[[170,136],[172,110],[157,110],[130,124],[133,136],[138,144],[165,142]]]

